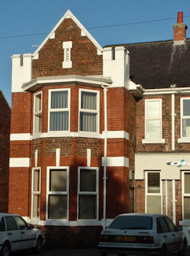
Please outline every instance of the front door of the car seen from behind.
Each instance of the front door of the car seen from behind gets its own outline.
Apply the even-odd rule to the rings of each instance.
[[[166,217],[166,223],[168,224],[168,226],[170,228],[170,233],[171,233],[172,242],[173,242],[173,250],[174,250],[174,252],[178,252],[181,250],[181,243],[183,242],[182,234],[181,234],[181,232],[177,232],[176,226],[170,220],[169,217]]]

